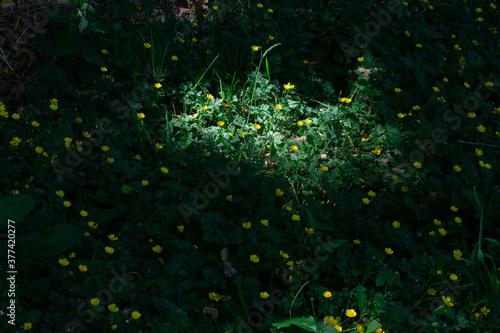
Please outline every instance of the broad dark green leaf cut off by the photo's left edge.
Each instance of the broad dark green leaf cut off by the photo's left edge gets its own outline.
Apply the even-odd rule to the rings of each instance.
[[[9,219],[16,223],[24,220],[35,203],[35,198],[27,194],[12,195],[0,200],[0,229],[8,225]]]

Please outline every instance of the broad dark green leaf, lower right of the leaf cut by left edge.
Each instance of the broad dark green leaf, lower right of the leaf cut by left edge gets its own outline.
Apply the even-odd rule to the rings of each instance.
[[[62,253],[75,246],[83,237],[85,230],[70,224],[55,226],[41,247],[41,253],[47,257]]]

